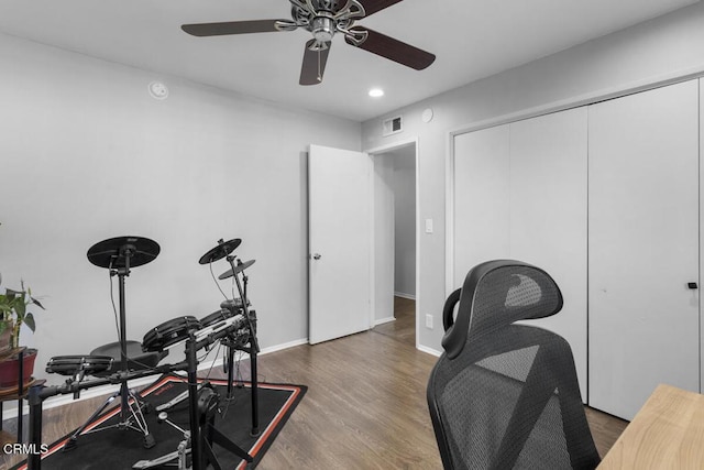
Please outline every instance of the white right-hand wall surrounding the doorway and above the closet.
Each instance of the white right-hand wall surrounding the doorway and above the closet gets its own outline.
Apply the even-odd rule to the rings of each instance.
[[[673,77],[704,72],[704,3],[590,41],[446,94],[362,125],[362,145],[373,149],[418,139],[420,218],[436,231],[420,239],[420,315],[435,325],[446,298],[446,178],[450,131],[510,121],[615,96]],[[442,56],[438,56],[442,61]],[[435,118],[424,123],[424,109]],[[403,114],[405,130],[382,136],[382,120]],[[442,328],[419,332],[419,343],[441,350]]]

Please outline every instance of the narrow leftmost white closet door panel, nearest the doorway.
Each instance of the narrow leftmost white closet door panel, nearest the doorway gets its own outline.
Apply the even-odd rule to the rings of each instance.
[[[455,135],[453,286],[481,262],[509,250],[508,125]]]

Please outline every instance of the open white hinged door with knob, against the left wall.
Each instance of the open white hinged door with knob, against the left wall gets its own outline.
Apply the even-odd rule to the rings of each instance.
[[[310,145],[308,153],[311,345],[372,327],[372,159]]]

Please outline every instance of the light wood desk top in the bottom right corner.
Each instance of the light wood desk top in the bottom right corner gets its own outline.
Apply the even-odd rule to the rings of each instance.
[[[598,469],[704,469],[704,395],[658,385]]]

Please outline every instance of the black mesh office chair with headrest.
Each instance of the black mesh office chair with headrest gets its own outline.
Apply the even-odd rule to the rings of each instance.
[[[510,260],[479,264],[448,297],[427,391],[446,469],[596,468],[569,343],[514,324],[561,308],[548,273]]]

